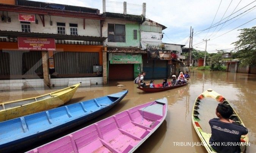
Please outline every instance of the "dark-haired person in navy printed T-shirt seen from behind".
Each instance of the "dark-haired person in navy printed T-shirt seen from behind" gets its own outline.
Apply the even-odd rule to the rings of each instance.
[[[219,118],[209,121],[212,129],[209,144],[218,153],[240,153],[239,142],[241,135],[248,133],[247,128],[229,119],[232,114],[232,107],[220,103],[216,108],[216,115]],[[234,145],[225,145],[228,142],[232,142]]]

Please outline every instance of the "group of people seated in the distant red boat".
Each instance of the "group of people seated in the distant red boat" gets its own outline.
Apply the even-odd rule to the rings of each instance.
[[[143,71],[141,74],[138,75],[138,77],[134,80],[134,83],[138,84],[139,87],[150,87],[154,88],[155,87],[155,81],[151,80],[150,83],[144,83],[144,77],[146,76],[146,73]],[[168,83],[167,79],[163,79],[162,87],[170,87],[174,85],[179,85],[183,83],[187,83],[188,78],[190,78],[188,71],[183,74],[182,72],[179,73],[178,78],[176,79],[176,75],[171,76],[171,82]]]

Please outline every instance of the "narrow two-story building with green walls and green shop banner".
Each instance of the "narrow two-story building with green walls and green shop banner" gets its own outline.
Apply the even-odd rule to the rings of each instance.
[[[141,54],[146,54],[140,47],[140,24],[145,20],[146,3],[102,2],[105,17],[102,36],[107,37],[103,80],[133,79],[141,70]]]

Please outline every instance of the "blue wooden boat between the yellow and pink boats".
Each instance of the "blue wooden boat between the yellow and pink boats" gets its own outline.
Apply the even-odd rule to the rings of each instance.
[[[0,122],[0,152],[28,147],[97,117],[118,104],[128,90]]]

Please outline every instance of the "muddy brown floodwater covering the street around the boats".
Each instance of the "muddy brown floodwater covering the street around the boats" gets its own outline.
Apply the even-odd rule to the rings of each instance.
[[[194,71],[190,73],[189,84],[185,87],[175,88],[159,93],[145,93],[138,90],[133,80],[110,81],[108,85],[95,85],[91,87],[79,87],[74,97],[68,104],[129,90],[124,99],[107,113],[93,119],[92,121],[73,128],[65,133],[58,134],[47,141],[39,142],[33,146],[27,146],[27,151],[39,145],[60,138],[65,134],[79,130],[94,122],[100,121],[113,114],[127,110],[131,107],[166,97],[168,99],[168,114],[163,124],[153,133],[135,152],[184,152],[184,153],[205,153],[203,146],[191,146],[192,143],[201,142],[192,125],[192,107],[196,97],[208,88],[212,88],[217,93],[223,95],[232,107],[237,111],[245,126],[249,131],[250,146],[247,153],[256,152],[256,75],[228,72]],[[146,77],[145,77],[146,79]],[[168,79],[170,80],[170,79]],[[161,83],[162,80],[155,80]],[[122,84],[124,87],[116,87]],[[40,94],[49,93],[63,87],[27,88],[23,91],[2,91],[0,92],[0,102],[16,99],[23,99]],[[217,106],[217,105],[216,105]],[[213,106],[213,110],[215,107]],[[202,111],[202,110],[201,110]],[[209,111],[212,113],[214,111]],[[207,114],[207,113],[206,113]],[[211,114],[212,116],[212,114]],[[205,121],[207,127],[207,121]],[[208,127],[209,128],[209,127]],[[182,144],[187,146],[178,146]]]

